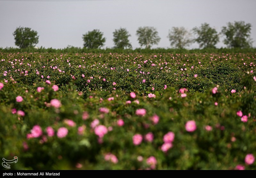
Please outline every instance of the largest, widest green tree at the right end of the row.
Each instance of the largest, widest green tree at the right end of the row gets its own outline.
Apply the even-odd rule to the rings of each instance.
[[[227,27],[222,27],[221,33],[226,36],[224,44],[229,48],[249,48],[252,46],[250,23],[244,21],[228,22]]]

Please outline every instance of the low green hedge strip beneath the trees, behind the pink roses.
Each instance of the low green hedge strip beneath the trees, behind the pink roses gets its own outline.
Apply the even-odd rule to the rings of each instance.
[[[143,48],[136,48],[132,49],[118,49],[118,48],[106,48],[106,49],[87,49],[87,48],[80,48],[74,46],[68,46],[63,49],[54,49],[54,48],[0,48],[0,52],[8,52],[8,53],[18,53],[18,52],[48,52],[48,53],[256,53],[256,48],[204,48],[204,49],[175,49],[175,48],[155,48],[155,49],[143,49]]]

